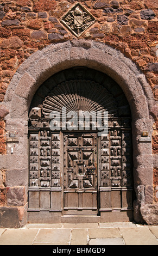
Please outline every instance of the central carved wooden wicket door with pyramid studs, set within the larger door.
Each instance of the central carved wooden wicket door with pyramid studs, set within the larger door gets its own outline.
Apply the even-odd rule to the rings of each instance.
[[[64,134],[64,214],[97,215],[97,133]]]

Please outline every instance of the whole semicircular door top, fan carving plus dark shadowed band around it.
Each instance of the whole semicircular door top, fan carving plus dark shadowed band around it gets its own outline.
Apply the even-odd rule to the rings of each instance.
[[[40,117],[49,118],[50,112],[60,112],[61,106],[66,106],[67,111],[104,109],[109,117],[130,117],[129,103],[118,84],[102,72],[86,67],[67,69],[50,77],[34,95],[30,111],[37,108],[37,113],[40,108]]]

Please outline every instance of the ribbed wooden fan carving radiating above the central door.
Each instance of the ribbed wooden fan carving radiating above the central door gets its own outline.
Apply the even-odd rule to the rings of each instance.
[[[71,80],[55,87],[45,98],[42,106],[44,117],[49,118],[52,111],[62,112],[108,111],[110,117],[117,114],[117,105],[113,96],[103,86],[89,80]],[[67,114],[67,113],[65,113]]]

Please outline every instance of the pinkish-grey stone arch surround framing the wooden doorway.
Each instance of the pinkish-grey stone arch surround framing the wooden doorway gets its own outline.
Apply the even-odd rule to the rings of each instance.
[[[132,144],[134,148],[134,218],[141,221],[140,206],[153,203],[153,157],[151,141],[140,142],[142,131],[151,137],[154,120],[150,113],[155,106],[153,94],[145,76],[130,59],[118,50],[102,42],[73,40],[52,44],[32,54],[17,69],[12,78],[3,104],[9,109],[5,117],[6,130],[14,131],[18,142],[11,154],[7,143],[7,155],[1,155],[1,168],[7,169],[6,185],[24,187],[21,205],[27,215],[28,189],[28,111],[31,100],[40,85],[53,74],[73,66],[87,66],[103,72],[122,88],[131,108]],[[17,165],[18,164],[18,165]],[[10,206],[16,206],[14,203]],[[25,224],[27,217],[22,222]]]

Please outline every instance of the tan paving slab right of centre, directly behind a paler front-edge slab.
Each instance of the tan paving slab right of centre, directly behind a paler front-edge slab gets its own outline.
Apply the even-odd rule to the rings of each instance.
[[[88,231],[90,239],[122,237],[118,228],[91,228]]]

